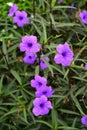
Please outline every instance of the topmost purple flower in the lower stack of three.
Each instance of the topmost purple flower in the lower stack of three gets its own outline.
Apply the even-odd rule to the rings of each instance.
[[[36,75],[35,78],[31,80],[31,86],[33,88],[36,88],[36,90],[42,86],[46,86],[46,84],[47,84],[47,79],[39,75]]]

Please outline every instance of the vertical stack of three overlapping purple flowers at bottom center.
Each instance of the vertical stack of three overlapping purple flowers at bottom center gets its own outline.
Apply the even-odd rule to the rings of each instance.
[[[35,116],[43,116],[49,113],[52,109],[52,104],[48,100],[52,96],[53,90],[51,86],[47,86],[47,79],[36,75],[33,80],[31,80],[31,86],[36,89],[36,98],[33,101],[33,114]]]

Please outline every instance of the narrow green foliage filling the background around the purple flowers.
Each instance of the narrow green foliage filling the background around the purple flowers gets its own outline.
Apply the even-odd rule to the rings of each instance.
[[[87,25],[78,16],[79,9],[87,10],[87,0],[13,0],[28,12],[30,23],[23,28],[14,28],[7,2],[0,0],[0,130],[87,130],[81,124],[87,114]],[[23,63],[19,43],[24,35],[38,37],[41,52],[50,57],[50,63],[43,59],[48,69]],[[53,60],[56,46],[65,41],[74,52],[69,67]],[[32,113],[35,91],[30,80],[35,74],[45,76],[54,90],[53,109],[43,117]]]

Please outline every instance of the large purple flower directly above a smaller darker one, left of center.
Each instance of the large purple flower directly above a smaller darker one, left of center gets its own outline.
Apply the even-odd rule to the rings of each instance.
[[[19,45],[20,51],[26,51],[27,52],[39,52],[40,51],[40,44],[37,43],[37,37],[36,36],[23,36],[22,42]]]

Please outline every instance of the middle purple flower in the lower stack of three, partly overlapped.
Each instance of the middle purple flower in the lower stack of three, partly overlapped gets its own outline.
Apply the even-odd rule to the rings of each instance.
[[[42,95],[46,96],[46,97],[51,97],[53,94],[52,91],[52,87],[49,86],[43,86],[37,89],[37,91],[35,92],[36,97],[41,97]]]

